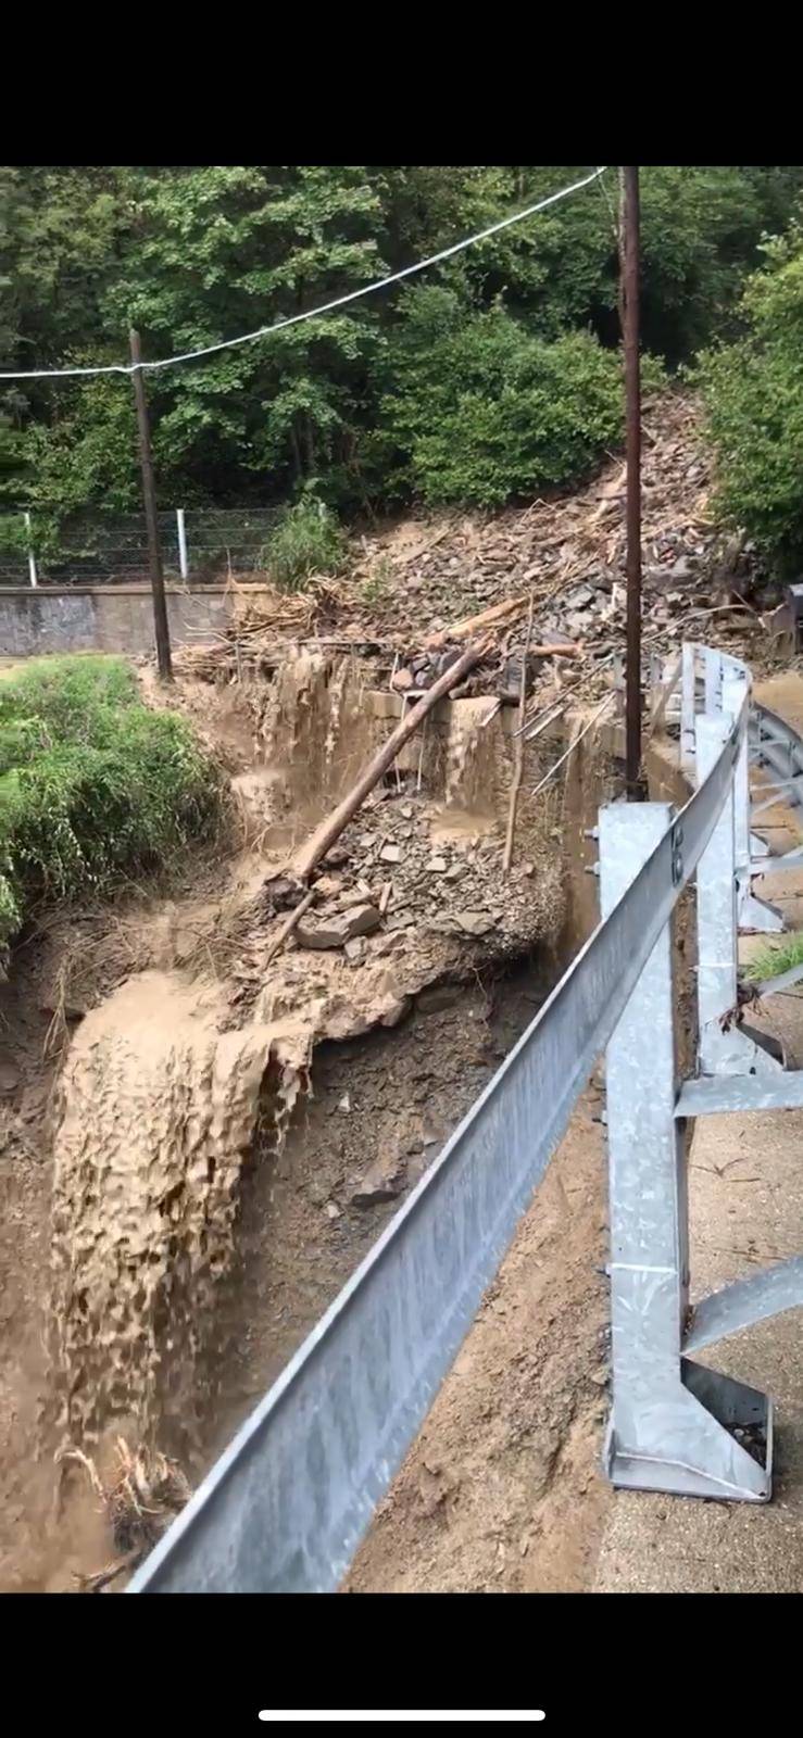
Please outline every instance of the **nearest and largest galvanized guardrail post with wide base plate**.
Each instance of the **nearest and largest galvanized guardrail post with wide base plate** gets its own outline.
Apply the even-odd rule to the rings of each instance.
[[[667,803],[600,810],[607,918],[671,826]],[[730,822],[732,826],[732,822]],[[680,862],[681,838],[673,852]],[[607,1050],[612,1410],[605,1470],[615,1486],[763,1502],[772,1411],[763,1394],[681,1356],[688,1319],[685,1128],[676,1118],[671,921]],[[760,1465],[732,1434],[753,1427]]]

